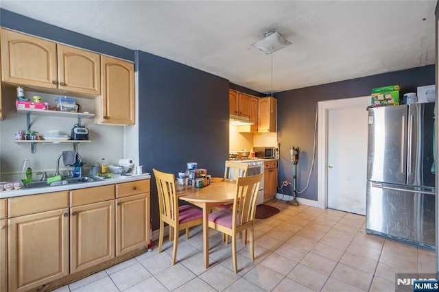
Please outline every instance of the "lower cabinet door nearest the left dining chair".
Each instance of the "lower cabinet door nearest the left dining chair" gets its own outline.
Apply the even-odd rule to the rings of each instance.
[[[116,199],[116,256],[150,242],[150,194]]]

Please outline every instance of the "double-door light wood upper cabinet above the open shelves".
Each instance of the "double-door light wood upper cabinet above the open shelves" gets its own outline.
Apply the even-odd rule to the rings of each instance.
[[[98,53],[1,29],[1,80],[30,88],[100,95]],[[79,95],[80,96],[80,95]]]

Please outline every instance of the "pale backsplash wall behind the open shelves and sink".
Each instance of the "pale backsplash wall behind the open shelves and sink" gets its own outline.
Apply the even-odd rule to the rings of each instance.
[[[60,95],[48,95],[43,93],[25,92],[25,97],[32,99],[33,95],[43,97],[43,102],[56,104],[55,99]],[[56,158],[64,150],[73,150],[73,144],[37,144],[36,153],[32,154],[31,145],[27,143],[16,144],[14,134],[19,130],[26,130],[26,115],[17,114],[15,109],[16,88],[2,88],[3,121],[0,121],[0,181],[14,179],[14,176],[21,173],[24,158],[29,158],[34,173],[47,171],[48,175],[55,172]],[[78,99],[80,111],[93,113],[93,99]],[[43,115],[31,114],[31,130],[44,133],[45,130],[60,130],[63,134],[70,135],[71,128],[78,123],[76,118],[47,117]],[[86,169],[99,162],[101,158],[106,158],[109,165],[117,164],[119,158],[130,157],[138,159],[138,151],[133,150],[138,147],[126,145],[129,140],[126,132],[134,134],[136,126],[129,126],[127,131],[123,126],[115,125],[96,125],[93,119],[82,119],[82,125],[88,128],[90,133],[90,143],[79,143],[78,153],[82,160],[86,162]],[[127,126],[128,127],[128,126]],[[133,127],[133,128],[131,128]],[[133,138],[133,143],[138,139]],[[138,161],[136,161],[136,164]],[[60,160],[60,169],[67,170]],[[38,180],[40,175],[34,175],[34,180]]]

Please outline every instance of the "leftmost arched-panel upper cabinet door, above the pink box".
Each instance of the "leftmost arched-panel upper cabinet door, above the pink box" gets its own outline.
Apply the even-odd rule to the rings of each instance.
[[[56,43],[1,29],[1,80],[58,88]]]

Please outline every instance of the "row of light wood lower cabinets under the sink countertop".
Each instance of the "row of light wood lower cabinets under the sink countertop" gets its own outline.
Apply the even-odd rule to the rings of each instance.
[[[114,265],[150,241],[150,180],[12,197],[8,212],[5,202],[0,292],[72,282],[78,271]]]

